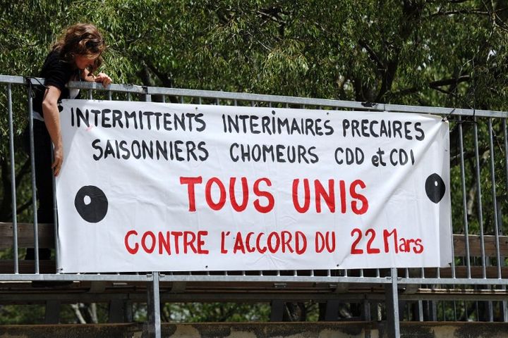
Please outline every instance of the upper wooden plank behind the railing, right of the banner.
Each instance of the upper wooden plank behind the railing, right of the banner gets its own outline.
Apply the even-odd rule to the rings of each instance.
[[[469,239],[469,256],[480,257],[481,256],[481,238],[478,234],[468,235]],[[485,235],[483,236],[485,243],[485,256],[495,257],[496,256],[496,241],[495,236]],[[508,256],[508,236],[500,236],[500,253],[502,257]],[[454,234],[454,254],[455,256],[466,256],[466,236],[464,234]]]

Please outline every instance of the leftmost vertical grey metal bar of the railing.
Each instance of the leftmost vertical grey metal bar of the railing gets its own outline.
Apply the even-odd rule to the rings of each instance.
[[[18,206],[16,205],[16,162],[14,161],[14,125],[12,112],[12,90],[11,83],[7,84],[7,111],[9,123],[9,154],[11,156],[11,196],[13,211],[13,258],[14,273],[19,273],[18,262]]]

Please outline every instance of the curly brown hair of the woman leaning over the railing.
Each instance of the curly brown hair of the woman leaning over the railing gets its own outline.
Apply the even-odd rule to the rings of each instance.
[[[76,23],[61,35],[60,39],[53,45],[53,51],[59,51],[63,61],[73,62],[77,55],[95,58],[91,73],[95,72],[102,65],[102,52],[106,44],[101,33],[91,23]]]

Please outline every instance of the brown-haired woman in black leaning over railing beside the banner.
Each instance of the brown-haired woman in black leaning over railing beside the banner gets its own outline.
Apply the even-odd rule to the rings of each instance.
[[[97,27],[78,23],[68,27],[42,65],[40,77],[45,79],[44,87],[36,91],[33,99],[35,181],[39,197],[37,220],[40,223],[54,222],[51,175],[59,175],[63,163],[58,102],[78,96],[78,89],[66,87],[71,80],[102,82],[104,87],[111,83],[111,77],[104,73],[93,75],[102,64],[104,49],[106,44]],[[40,250],[41,259],[48,259],[49,254],[49,249]],[[33,256],[34,250],[28,249],[25,258],[33,259]]]

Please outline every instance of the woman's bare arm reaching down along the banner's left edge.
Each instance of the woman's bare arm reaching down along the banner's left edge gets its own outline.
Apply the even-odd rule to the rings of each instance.
[[[48,89],[46,89],[44,99],[42,100],[44,123],[46,124],[49,137],[51,137],[54,145],[52,169],[55,176],[59,175],[63,163],[63,143],[60,131],[60,112],[58,109],[60,93],[60,89],[50,85]]]

